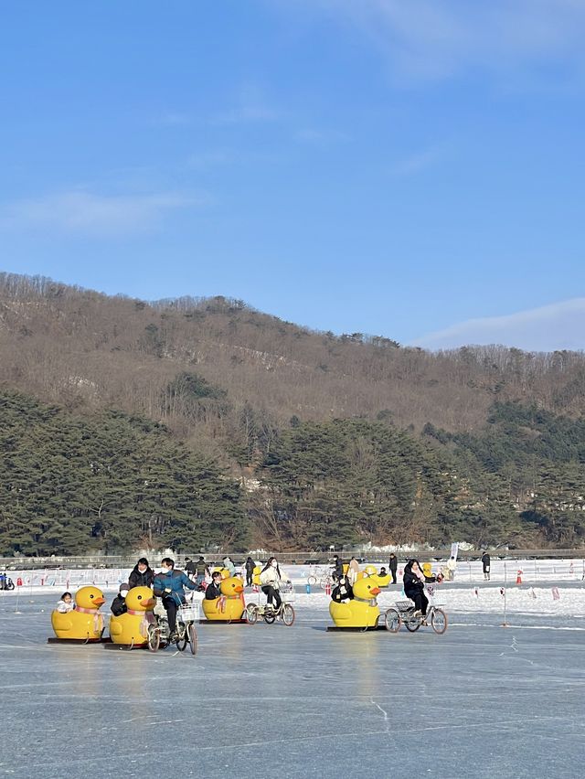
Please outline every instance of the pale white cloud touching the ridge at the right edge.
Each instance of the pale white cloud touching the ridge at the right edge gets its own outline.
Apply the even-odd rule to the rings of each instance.
[[[532,352],[585,349],[585,297],[506,316],[469,319],[417,338],[410,346],[436,350],[490,344]]]

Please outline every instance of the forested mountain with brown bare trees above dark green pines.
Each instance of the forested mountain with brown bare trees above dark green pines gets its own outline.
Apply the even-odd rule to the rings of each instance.
[[[580,353],[0,274],[0,366],[0,552],[583,540]]]

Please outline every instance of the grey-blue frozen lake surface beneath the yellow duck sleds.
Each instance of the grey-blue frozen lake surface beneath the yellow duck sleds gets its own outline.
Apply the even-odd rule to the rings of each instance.
[[[0,775],[583,774],[582,619],[502,628],[480,601],[442,636],[327,633],[324,598],[303,600],[292,627],[200,625],[193,657],[48,646],[55,594],[21,614],[4,595]]]

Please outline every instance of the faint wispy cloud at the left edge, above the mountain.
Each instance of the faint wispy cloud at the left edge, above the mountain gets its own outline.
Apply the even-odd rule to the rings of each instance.
[[[98,195],[74,189],[5,204],[0,207],[0,228],[52,229],[92,236],[150,232],[165,215],[205,202],[206,197],[176,192]]]

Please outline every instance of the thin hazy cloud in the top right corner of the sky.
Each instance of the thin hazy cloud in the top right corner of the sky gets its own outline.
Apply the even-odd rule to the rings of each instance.
[[[311,0],[361,30],[396,76],[441,80],[463,70],[509,73],[555,64],[583,75],[582,0]]]

